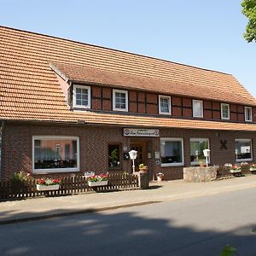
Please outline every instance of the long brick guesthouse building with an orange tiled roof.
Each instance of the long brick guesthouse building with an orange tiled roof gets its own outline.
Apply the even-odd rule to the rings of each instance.
[[[256,100],[230,74],[0,26],[1,178],[253,162]]]

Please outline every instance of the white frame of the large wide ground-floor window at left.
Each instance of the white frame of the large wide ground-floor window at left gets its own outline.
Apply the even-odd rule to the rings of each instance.
[[[35,140],[61,140],[72,139],[77,141],[77,167],[74,168],[50,168],[50,169],[35,169]],[[44,173],[58,173],[58,172],[79,172],[80,171],[80,143],[79,137],[69,136],[33,136],[32,137],[32,173],[44,174]]]

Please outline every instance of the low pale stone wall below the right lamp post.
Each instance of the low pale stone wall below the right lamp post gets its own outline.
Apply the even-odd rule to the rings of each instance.
[[[217,166],[186,167],[183,168],[183,179],[191,183],[210,182],[216,179],[217,169]]]

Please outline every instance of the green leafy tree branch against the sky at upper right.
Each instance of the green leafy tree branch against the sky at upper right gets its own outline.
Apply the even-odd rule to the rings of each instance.
[[[243,0],[241,12],[248,18],[246,32],[243,37],[248,43],[256,42],[256,0]]]

